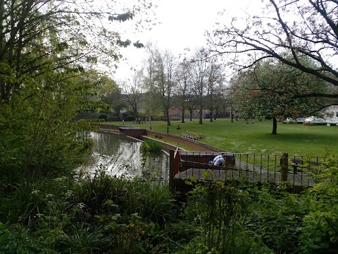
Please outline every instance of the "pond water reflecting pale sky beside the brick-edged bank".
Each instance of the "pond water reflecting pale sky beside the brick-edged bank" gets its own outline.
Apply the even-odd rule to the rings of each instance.
[[[158,181],[169,179],[169,157],[164,152],[146,157],[142,167],[141,141],[108,132],[88,133],[94,140],[94,150],[87,164],[79,169],[94,173],[104,169],[112,176],[142,176],[154,174]]]

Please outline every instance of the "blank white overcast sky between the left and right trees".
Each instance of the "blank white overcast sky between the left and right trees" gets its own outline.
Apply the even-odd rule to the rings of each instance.
[[[144,30],[136,35],[127,35],[132,42],[153,42],[160,49],[170,49],[175,55],[189,48],[192,51],[206,46],[204,32],[212,30],[217,21],[217,14],[226,9],[223,15],[239,16],[244,12],[258,9],[261,0],[158,0],[155,9],[157,22],[151,30]],[[126,80],[130,76],[130,68],[139,69],[144,59],[144,50],[128,47],[122,50],[126,60],[120,61],[115,80]]]

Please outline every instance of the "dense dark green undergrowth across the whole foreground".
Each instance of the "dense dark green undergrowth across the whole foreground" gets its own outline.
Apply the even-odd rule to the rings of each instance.
[[[192,179],[182,200],[151,176],[104,171],[3,184],[0,253],[337,253],[337,164],[301,194]]]

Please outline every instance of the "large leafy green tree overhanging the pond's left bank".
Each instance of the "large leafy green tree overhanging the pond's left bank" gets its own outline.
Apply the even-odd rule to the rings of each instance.
[[[81,111],[106,109],[96,95],[100,99],[108,95],[107,87],[120,95],[116,83],[100,77],[95,65],[115,66],[119,47],[131,43],[123,44],[119,32],[111,30],[114,26],[97,21],[134,18],[138,23],[137,13],[150,6],[54,0],[1,1],[0,5],[0,135],[4,137],[0,179],[20,182],[68,174],[92,148],[82,131],[94,129],[89,121],[72,120]]]

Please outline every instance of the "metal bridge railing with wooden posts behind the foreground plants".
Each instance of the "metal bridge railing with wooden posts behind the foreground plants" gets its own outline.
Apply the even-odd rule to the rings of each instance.
[[[313,186],[311,172],[320,167],[320,157],[298,155],[266,155],[230,152],[187,152],[175,150],[173,170],[170,171],[172,183],[182,182],[194,177],[196,180],[227,181],[246,179],[250,182],[285,181],[294,189],[298,186]],[[222,167],[210,162],[215,156],[225,156]]]

